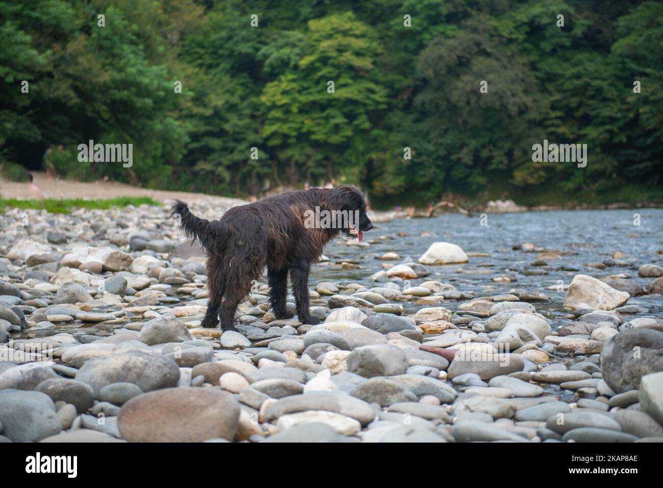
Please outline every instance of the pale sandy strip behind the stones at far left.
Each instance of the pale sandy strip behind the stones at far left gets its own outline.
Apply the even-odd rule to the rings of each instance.
[[[245,204],[240,199],[216,197],[204,193],[187,193],[182,191],[152,190],[133,187],[117,181],[93,181],[81,183],[60,179],[46,179],[46,173],[32,171],[34,184],[39,187],[46,199],[113,199],[116,197],[151,197],[156,201],[170,203],[172,199],[184,200],[188,203],[218,203],[223,206]],[[0,196],[5,199],[34,199],[29,192],[29,183],[15,183],[0,178]]]

